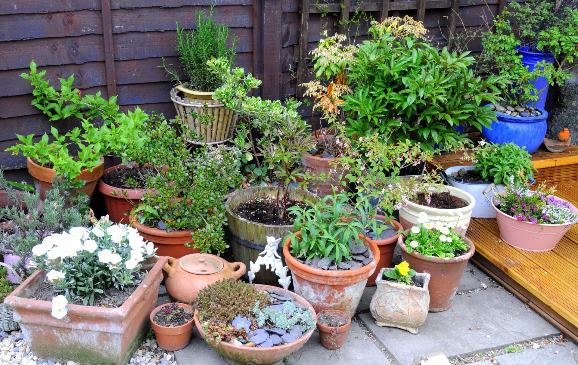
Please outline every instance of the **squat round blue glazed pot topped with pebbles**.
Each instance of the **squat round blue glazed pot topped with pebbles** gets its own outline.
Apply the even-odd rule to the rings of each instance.
[[[481,137],[492,143],[516,143],[520,147],[526,147],[529,154],[538,150],[546,137],[548,128],[546,120],[548,112],[542,112],[541,116],[531,118],[510,117],[496,113],[498,122],[492,122],[492,129],[485,126],[481,130]]]

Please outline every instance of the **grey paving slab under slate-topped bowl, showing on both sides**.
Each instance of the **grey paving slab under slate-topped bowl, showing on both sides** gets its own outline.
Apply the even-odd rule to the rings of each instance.
[[[175,353],[175,359],[180,365],[227,365],[227,361],[199,336],[197,329],[193,331],[190,344],[182,351]],[[349,332],[343,346],[338,350],[325,349],[319,340],[317,330],[313,332],[309,341],[299,351],[293,353],[283,361],[284,365],[310,364],[379,364],[390,365],[390,360],[361,329],[355,321],[351,322]]]

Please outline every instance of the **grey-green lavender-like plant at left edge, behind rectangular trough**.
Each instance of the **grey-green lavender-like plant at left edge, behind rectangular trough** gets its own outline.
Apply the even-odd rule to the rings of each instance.
[[[88,210],[88,198],[83,193],[71,196],[71,185],[66,180],[54,178],[52,189],[46,192],[43,211],[40,214],[38,205],[40,196],[28,191],[22,192],[23,203],[12,207],[0,207],[0,221],[10,222],[12,229],[1,233],[0,254],[17,255],[20,257],[12,264],[17,277],[27,278],[34,268],[28,267],[27,262],[32,256],[32,248],[53,233],[61,233],[75,226],[88,223],[85,216]],[[8,192],[8,198],[18,202],[15,191],[7,184],[0,171],[0,189]],[[69,199],[70,203],[65,204]]]

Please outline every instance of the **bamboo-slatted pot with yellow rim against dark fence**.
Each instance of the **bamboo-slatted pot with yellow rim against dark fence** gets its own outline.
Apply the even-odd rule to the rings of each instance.
[[[221,100],[213,100],[214,92],[188,90],[177,85],[171,90],[171,100],[175,105],[180,123],[189,131],[202,136],[202,140],[186,138],[194,144],[220,144],[232,137],[237,122],[237,113],[225,107]],[[208,114],[214,118],[210,124],[203,124],[197,116]]]

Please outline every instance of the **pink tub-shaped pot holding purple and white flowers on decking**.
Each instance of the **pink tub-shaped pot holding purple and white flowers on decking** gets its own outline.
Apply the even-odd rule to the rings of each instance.
[[[553,195],[554,196],[554,195]],[[566,202],[562,198],[554,196],[558,200]],[[570,204],[570,202],[568,202]],[[518,221],[516,218],[503,213],[495,206],[492,198],[492,207],[496,213],[500,238],[510,246],[525,251],[550,251],[568,232],[568,228],[577,221],[566,224],[532,224]],[[570,204],[570,213],[578,214],[575,206]]]

